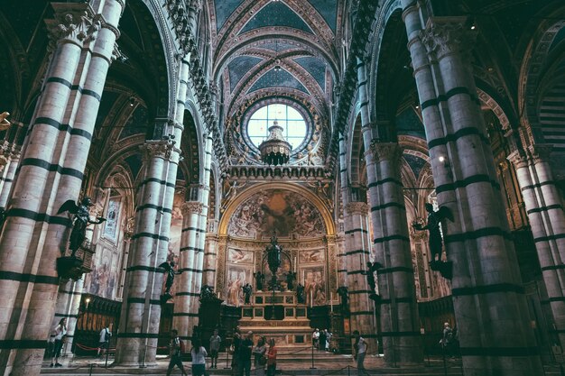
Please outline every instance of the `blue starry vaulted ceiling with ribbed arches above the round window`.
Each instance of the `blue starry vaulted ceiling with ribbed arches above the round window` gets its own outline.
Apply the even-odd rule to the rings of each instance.
[[[208,0],[213,79],[227,115],[262,92],[329,107],[343,0]],[[276,69],[275,69],[276,68]]]

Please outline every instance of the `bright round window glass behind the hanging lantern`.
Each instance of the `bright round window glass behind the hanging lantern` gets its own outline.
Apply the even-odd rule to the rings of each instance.
[[[269,136],[269,127],[277,121],[282,126],[282,135],[296,150],[306,137],[306,122],[296,109],[290,105],[273,104],[259,108],[247,122],[247,135],[258,148]]]

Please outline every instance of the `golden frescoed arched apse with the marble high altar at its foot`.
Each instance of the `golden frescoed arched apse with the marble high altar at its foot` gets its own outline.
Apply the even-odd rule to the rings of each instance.
[[[240,307],[242,332],[273,337],[278,345],[310,344],[311,313],[321,308],[329,314],[338,305],[338,245],[329,211],[305,189],[249,190],[227,210],[230,219],[224,225],[225,235],[220,234],[216,281],[220,298],[228,306]],[[265,252],[273,230],[282,247],[280,264],[274,269],[274,293],[273,268]],[[257,286],[257,272],[264,274],[262,287]],[[292,290],[289,273],[296,276]],[[303,302],[296,294],[299,283]],[[253,291],[248,304],[246,284]]]

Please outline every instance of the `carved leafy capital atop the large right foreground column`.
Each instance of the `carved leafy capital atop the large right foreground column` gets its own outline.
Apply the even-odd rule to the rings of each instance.
[[[468,54],[477,32],[468,27],[468,17],[430,17],[420,38],[431,60],[441,60],[452,54]]]

